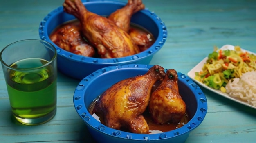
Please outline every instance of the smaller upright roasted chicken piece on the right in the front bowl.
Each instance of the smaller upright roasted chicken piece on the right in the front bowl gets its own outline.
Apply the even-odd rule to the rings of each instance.
[[[186,104],[179,94],[178,76],[174,69],[168,69],[162,83],[153,91],[148,109],[158,123],[180,122],[186,111]]]

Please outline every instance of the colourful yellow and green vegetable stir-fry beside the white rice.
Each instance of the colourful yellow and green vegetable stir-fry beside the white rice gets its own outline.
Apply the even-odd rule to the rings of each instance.
[[[209,54],[202,71],[195,72],[195,79],[225,92],[225,86],[232,78],[240,76],[249,71],[256,70],[256,56],[248,52],[243,52],[240,46],[235,46],[234,50],[221,50],[215,48]]]

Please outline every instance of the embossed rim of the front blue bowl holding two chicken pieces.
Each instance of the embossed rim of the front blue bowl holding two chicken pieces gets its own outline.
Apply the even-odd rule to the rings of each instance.
[[[157,133],[157,134],[135,134],[130,132],[124,132],[124,131],[112,129],[110,127],[107,127],[101,124],[99,121],[97,121],[97,119],[95,119],[94,117],[92,117],[92,115],[90,115],[89,111],[87,110],[87,107],[85,107],[85,104],[83,102],[85,93],[83,91],[85,91],[90,81],[93,81],[94,79],[98,78],[101,74],[108,74],[108,72],[114,72],[119,69],[145,70],[145,69],[149,69],[152,66],[153,65],[142,65],[142,64],[109,66],[109,67],[99,69],[93,72],[92,74],[90,74],[89,76],[86,76],[83,80],[81,80],[79,85],[76,87],[76,90],[74,91],[73,102],[74,102],[74,107],[76,109],[76,112],[79,114],[81,119],[85,122],[85,124],[87,124],[87,126],[92,128],[93,130],[97,130],[103,134],[107,134],[112,137],[119,137],[123,139],[127,139],[127,137],[132,137],[132,140],[142,141],[142,140],[145,140],[144,139],[145,137],[148,137],[148,139],[150,140],[160,140],[160,139],[177,137],[182,134],[188,134],[189,132],[191,132],[191,130],[198,127],[202,123],[204,117],[206,116],[207,99],[204,93],[202,92],[202,90],[200,89],[200,87],[195,82],[193,82],[193,80],[191,80],[188,76],[180,72],[178,72],[179,82],[183,82],[184,84],[188,85],[189,89],[191,89],[191,91],[195,95],[200,95],[200,98],[196,97],[197,111],[195,115],[191,118],[191,120],[187,124],[185,124],[181,128],[177,128],[175,130],[171,130],[163,133]],[[84,87],[82,91],[80,90],[81,85],[83,85],[82,87]],[[85,120],[85,117],[89,117],[90,119]],[[101,130],[102,127],[104,127],[104,130]],[[119,132],[119,136],[113,135],[113,133],[117,131]],[[164,137],[164,138],[161,138],[161,137]]]

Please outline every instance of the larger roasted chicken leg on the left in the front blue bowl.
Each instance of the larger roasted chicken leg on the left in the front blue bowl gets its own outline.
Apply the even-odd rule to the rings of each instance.
[[[102,93],[94,112],[103,115],[104,124],[110,128],[148,134],[149,127],[142,113],[148,106],[153,85],[164,75],[164,68],[154,65],[144,75],[117,82]]]

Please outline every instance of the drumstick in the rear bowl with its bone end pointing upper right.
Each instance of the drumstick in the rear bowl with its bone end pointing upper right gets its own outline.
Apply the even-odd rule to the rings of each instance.
[[[108,19],[124,31],[129,32],[132,15],[144,8],[145,5],[142,3],[142,0],[128,0],[126,6],[111,13]]]

